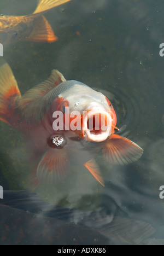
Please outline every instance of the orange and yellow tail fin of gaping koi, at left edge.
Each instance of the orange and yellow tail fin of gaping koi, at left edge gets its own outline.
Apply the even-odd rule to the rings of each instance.
[[[0,67],[0,120],[10,124],[13,112],[12,104],[17,96],[20,96],[17,82],[7,63]]]

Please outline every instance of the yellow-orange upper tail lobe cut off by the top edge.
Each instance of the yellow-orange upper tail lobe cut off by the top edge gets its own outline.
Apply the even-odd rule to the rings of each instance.
[[[49,9],[69,1],[71,0],[39,0],[37,9],[33,14],[43,13],[44,11],[48,11]]]

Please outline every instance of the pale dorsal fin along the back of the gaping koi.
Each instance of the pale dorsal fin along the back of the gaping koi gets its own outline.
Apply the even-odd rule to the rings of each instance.
[[[66,82],[66,79],[63,75],[57,71],[53,70],[50,78],[45,80],[43,83],[38,84],[34,88],[28,90],[20,99],[19,107],[24,108],[26,104],[36,100],[39,97],[42,97],[46,92],[54,89],[58,84]]]

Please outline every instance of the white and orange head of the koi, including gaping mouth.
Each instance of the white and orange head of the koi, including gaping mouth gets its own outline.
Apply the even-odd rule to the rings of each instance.
[[[58,97],[60,109],[65,112],[65,127],[75,131],[80,138],[91,142],[106,141],[114,133],[116,114],[108,98],[89,86],[74,84]]]

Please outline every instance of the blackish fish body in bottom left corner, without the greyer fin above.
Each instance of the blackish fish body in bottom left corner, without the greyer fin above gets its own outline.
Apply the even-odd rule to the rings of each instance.
[[[0,245],[108,245],[108,238],[84,226],[0,205]],[[68,236],[69,234],[69,236]]]

